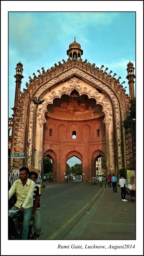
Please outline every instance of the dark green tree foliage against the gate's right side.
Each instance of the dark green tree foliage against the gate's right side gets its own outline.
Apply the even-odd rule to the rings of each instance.
[[[136,117],[136,108],[135,108],[135,98],[131,99],[131,107],[129,109],[129,113],[127,114],[125,120],[123,121],[123,127],[125,128],[125,131],[131,132],[132,126],[135,133],[135,122],[132,124],[132,120]]]

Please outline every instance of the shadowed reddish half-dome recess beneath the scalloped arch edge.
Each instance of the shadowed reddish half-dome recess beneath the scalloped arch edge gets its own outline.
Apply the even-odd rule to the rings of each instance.
[[[47,105],[45,116],[59,120],[91,120],[104,118],[102,105],[96,103],[94,98],[88,98],[86,94],[79,95],[74,89],[70,95],[63,94],[61,98],[55,98],[53,104]]]

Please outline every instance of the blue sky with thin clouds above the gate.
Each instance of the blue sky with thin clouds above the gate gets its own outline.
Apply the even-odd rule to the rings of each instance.
[[[127,63],[135,67],[135,12],[9,12],[9,117],[15,98],[15,67],[21,61],[21,91],[29,76],[44,67],[67,60],[74,41],[81,44],[82,59],[108,67],[121,76],[129,94]],[[63,63],[63,62],[62,62]]]

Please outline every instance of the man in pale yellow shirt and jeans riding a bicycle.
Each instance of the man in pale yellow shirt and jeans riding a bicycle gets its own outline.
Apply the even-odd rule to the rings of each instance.
[[[11,208],[11,211],[20,210],[23,213],[23,225],[21,239],[26,240],[29,233],[29,222],[33,211],[33,193],[35,183],[29,180],[29,168],[22,167],[19,170],[19,180],[16,180],[9,190],[9,199],[16,192],[17,201]],[[22,205],[22,206],[21,206]],[[17,216],[12,212],[10,217],[14,219]]]

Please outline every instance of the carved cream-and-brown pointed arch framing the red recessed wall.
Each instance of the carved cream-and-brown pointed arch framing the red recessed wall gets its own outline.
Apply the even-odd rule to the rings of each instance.
[[[46,106],[53,104],[54,98],[60,98],[63,94],[70,95],[76,89],[80,96],[86,94],[88,98],[94,98],[97,104],[102,105],[108,139],[106,151],[109,152],[111,148],[115,156],[115,163],[111,165],[110,155],[107,157],[107,163],[110,168],[112,166],[112,170],[125,167],[126,154],[122,120],[126,112],[125,109],[129,107],[129,97],[125,94],[122,85],[119,84],[119,79],[116,80],[106,72],[95,68],[94,65],[90,65],[86,61],[83,62],[82,59],[68,59],[67,62],[63,61],[63,64],[55,65],[55,68],[47,71],[42,69],[42,74],[40,73],[38,76],[34,74],[34,78],[30,78],[30,84],[26,83],[27,90],[25,89],[19,97],[18,119],[15,126],[19,132],[15,133],[13,138],[15,152],[26,151],[25,163],[32,169],[34,166],[34,134],[37,131],[36,147],[39,150],[36,151],[35,165],[36,170],[39,171],[39,160],[42,159],[43,148],[43,124],[46,122],[44,115]],[[31,101],[33,97],[42,97],[44,100],[43,104],[38,107],[37,117],[36,106]],[[36,130],[35,123],[37,123]],[[110,130],[113,131],[113,138],[110,137]],[[28,148],[26,147],[27,144],[29,144]],[[12,161],[16,163],[15,159]],[[19,164],[22,165],[22,162]]]

